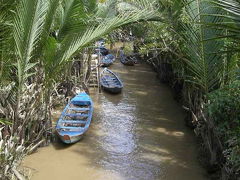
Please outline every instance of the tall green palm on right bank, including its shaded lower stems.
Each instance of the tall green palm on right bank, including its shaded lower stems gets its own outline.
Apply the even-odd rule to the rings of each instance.
[[[186,0],[170,5],[162,2],[162,7],[166,29],[178,34],[178,44],[173,49],[168,46],[170,54],[179,58],[172,60],[173,71],[184,80],[184,101],[191,122],[204,140],[213,165],[219,162],[218,153],[223,149],[211,117],[203,116],[203,105],[209,93],[237,78],[240,4],[237,0]]]

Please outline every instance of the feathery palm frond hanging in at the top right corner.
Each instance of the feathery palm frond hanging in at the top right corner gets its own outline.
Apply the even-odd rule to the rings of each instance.
[[[208,14],[204,14],[204,17],[224,19],[222,22],[204,22],[203,25],[208,28],[224,31],[224,34],[219,35],[216,39],[222,39],[226,44],[226,47],[219,49],[219,52],[221,54],[224,53],[223,82],[227,83],[234,79],[234,77],[236,78],[237,69],[239,68],[237,58],[234,54],[239,52],[237,47],[239,44],[238,40],[240,39],[240,2],[237,0],[208,0],[207,2],[218,9],[218,12],[209,12]]]

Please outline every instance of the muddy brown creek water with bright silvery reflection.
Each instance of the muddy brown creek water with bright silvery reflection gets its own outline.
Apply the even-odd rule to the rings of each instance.
[[[205,180],[196,139],[171,90],[145,64],[115,62],[121,94],[92,92],[94,116],[84,138],[40,148],[24,160],[33,180]],[[55,112],[58,117],[61,113]]]

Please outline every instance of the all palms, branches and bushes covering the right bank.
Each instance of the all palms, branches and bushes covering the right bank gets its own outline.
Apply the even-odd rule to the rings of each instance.
[[[237,0],[159,3],[158,20],[123,31],[132,32],[135,49],[183,103],[186,123],[201,137],[208,154],[209,172],[218,172],[217,179],[237,179],[240,4]]]

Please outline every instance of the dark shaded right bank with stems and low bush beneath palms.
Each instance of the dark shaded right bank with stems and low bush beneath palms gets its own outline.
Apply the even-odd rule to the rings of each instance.
[[[239,125],[234,121],[239,117],[236,108],[239,104],[239,82],[209,93],[208,102],[203,102],[201,93],[195,89],[195,94],[191,94],[194,89],[189,90],[187,82],[174,73],[168,56],[150,55],[144,61],[151,65],[160,82],[171,87],[175,100],[186,110],[185,124],[197,137],[199,161],[212,180],[239,179]],[[226,111],[226,107],[231,111]]]

